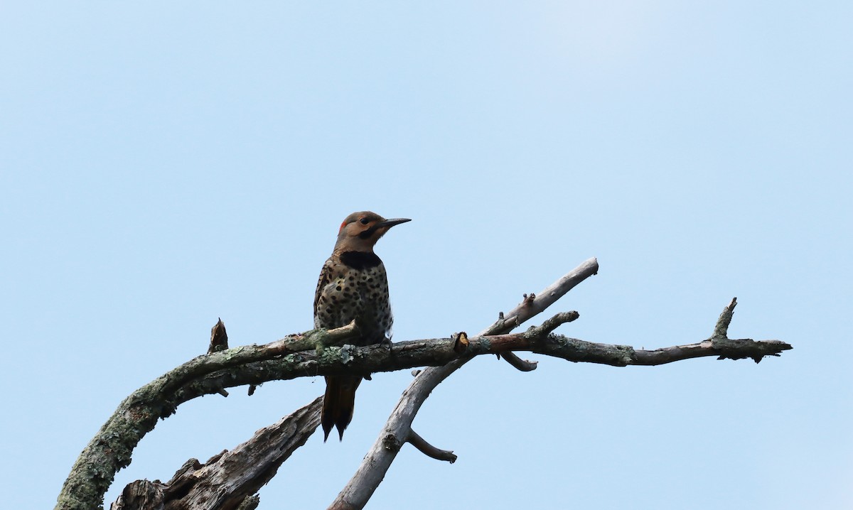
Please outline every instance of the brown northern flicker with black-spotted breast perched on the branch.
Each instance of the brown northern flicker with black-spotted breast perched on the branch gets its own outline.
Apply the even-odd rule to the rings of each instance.
[[[379,344],[391,330],[391,304],[385,266],[373,251],[376,241],[406,218],[385,219],[375,212],[353,212],[340,223],[332,256],[323,264],[314,294],[314,327],[332,329],[356,321],[355,345]],[[352,420],[361,376],[327,375],[322,401],[323,441],[332,427],[341,440]]]

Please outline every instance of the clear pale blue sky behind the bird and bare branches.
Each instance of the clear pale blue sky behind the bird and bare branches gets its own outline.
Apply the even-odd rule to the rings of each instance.
[[[368,507],[853,507],[850,3],[0,6],[0,478],[50,507],[131,391],[206,349],[311,327],[348,213],[395,339],[474,333],[584,259],[581,339],[794,350],[658,368],[494,356],[445,381]],[[531,357],[531,356],[527,356]],[[409,384],[359,390],[261,508],[325,507]],[[310,402],[322,380],[183,405],[112,501]]]

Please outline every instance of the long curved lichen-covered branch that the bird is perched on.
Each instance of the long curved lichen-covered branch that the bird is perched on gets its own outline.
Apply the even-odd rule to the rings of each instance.
[[[556,322],[565,321],[572,314],[558,314],[543,327],[531,328],[525,333],[495,336],[480,336],[467,339],[461,352],[458,339],[424,339],[394,344],[393,356],[383,345],[355,347],[329,347],[322,352],[302,351],[275,359],[223,368],[212,374],[200,375],[196,380],[173,392],[166,392],[160,378],[135,391],[119,405],[115,414],[102,426],[95,438],[84,449],[74,464],[71,474],[63,486],[57,508],[96,508],[102,504],[103,494],[114,474],[131,460],[131,452],[139,440],[150,432],[159,418],[165,418],[177,405],[190,398],[221,391],[223,387],[260,384],[269,380],[289,380],[327,374],[368,374],[404,368],[430,366],[424,369],[415,381],[421,380],[437,369],[456,369],[473,358],[484,354],[508,351],[531,351],[548,356],[561,357],[572,362],[595,362],[623,367],[626,365],[653,365],[674,362],[698,356],[720,356],[740,359],[742,357],[776,356],[791,346],[776,340],[755,342],[753,340],[708,339],[699,344],[681,345],[657,351],[636,351],[628,345],[606,345],[570,339],[562,335],[548,334]],[[310,333],[306,333],[310,334]],[[258,347],[258,346],[254,346]],[[241,348],[229,349],[210,355],[239,354]],[[218,367],[220,363],[212,363]],[[176,368],[179,370],[180,368]],[[444,372],[450,374],[450,372]],[[171,373],[170,373],[171,374]],[[164,378],[169,379],[166,374]],[[439,372],[442,374],[442,372]],[[180,379],[180,375],[175,375]],[[432,377],[436,377],[432,375]],[[440,380],[427,379],[438,384]],[[392,418],[397,422],[401,416],[414,417],[432,387],[421,384],[409,387],[397,404]],[[380,441],[387,449],[393,443],[402,444],[400,438],[409,438],[411,421],[407,427],[386,429]],[[404,433],[403,433],[404,432]],[[392,449],[388,449],[391,451]],[[396,453],[396,452],[395,452]],[[390,462],[389,462],[390,465]],[[359,469],[363,469],[364,465]],[[384,473],[384,472],[383,472]],[[370,491],[371,494],[373,489]],[[88,499],[84,499],[84,495]],[[368,495],[369,496],[369,495]],[[364,500],[367,501],[367,500]]]

